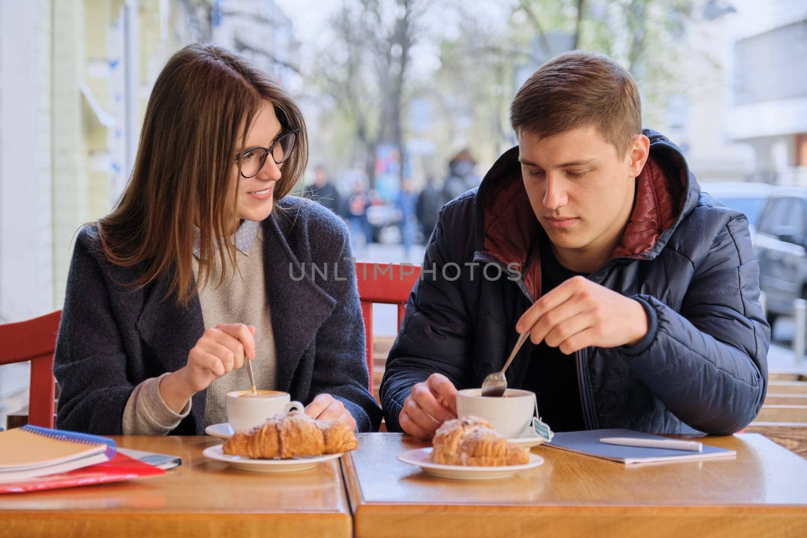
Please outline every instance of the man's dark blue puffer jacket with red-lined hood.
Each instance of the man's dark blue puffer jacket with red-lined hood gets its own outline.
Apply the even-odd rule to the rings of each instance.
[[[650,158],[631,220],[589,278],[641,301],[650,331],[633,347],[577,352],[585,423],[728,435],[755,418],[767,387],[770,327],[746,217],[700,193],[671,141],[645,134]],[[502,368],[516,321],[540,294],[529,248],[538,223],[517,159],[518,148],[504,153],[478,191],[441,211],[381,385],[390,431],[412,385],[433,372],[464,389]],[[532,347],[516,355],[511,386],[521,386]]]

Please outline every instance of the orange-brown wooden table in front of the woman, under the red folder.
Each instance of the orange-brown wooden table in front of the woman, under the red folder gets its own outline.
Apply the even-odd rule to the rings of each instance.
[[[301,473],[250,473],[202,456],[211,437],[115,437],[119,447],[182,456],[161,477],[0,495],[0,536],[345,536],[338,460]]]

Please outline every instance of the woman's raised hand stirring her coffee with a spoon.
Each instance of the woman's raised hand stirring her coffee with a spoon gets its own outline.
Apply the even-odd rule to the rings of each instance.
[[[188,353],[187,364],[162,378],[163,401],[178,413],[195,393],[244,366],[245,359],[254,359],[254,334],[255,327],[243,323],[222,323],[205,330]]]

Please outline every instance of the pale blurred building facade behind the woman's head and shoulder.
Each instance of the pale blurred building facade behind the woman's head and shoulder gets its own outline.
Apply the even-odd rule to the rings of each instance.
[[[271,0],[0,0],[0,323],[61,309],[75,233],[123,191],[170,55],[263,47],[248,55],[283,78],[290,24]],[[0,427],[25,389],[25,365],[0,367]]]

